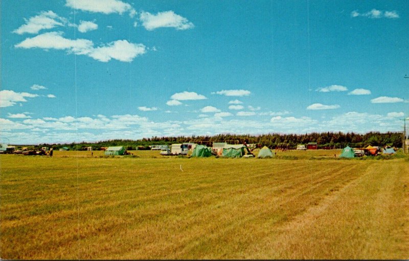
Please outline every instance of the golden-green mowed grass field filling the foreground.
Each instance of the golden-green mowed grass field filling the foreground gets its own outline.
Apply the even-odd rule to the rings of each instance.
[[[338,160],[333,151],[277,152],[298,160],[81,153],[0,156],[0,257],[409,257],[404,158]]]

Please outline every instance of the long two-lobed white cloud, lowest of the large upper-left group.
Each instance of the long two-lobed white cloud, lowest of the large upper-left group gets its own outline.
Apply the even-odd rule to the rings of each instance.
[[[87,55],[101,62],[107,62],[111,59],[130,62],[135,57],[146,52],[145,45],[130,43],[127,40],[117,40],[94,48],[92,41],[86,39],[67,39],[62,36],[62,32],[43,33],[27,38],[14,46],[23,49],[65,50],[69,54]]]

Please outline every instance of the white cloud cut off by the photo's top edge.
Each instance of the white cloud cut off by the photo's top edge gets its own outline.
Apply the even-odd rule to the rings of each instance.
[[[119,0],[98,0],[98,1],[67,0],[65,6],[71,7],[73,9],[79,9],[82,11],[103,14],[111,13],[122,14],[125,12],[129,12],[129,15],[133,16],[136,13],[136,11],[132,8],[131,5]]]

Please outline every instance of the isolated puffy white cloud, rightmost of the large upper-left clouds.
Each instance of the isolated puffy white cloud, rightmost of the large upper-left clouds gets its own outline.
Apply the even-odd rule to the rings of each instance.
[[[177,30],[186,30],[194,28],[192,22],[187,18],[175,14],[173,11],[159,12],[156,15],[142,12],[139,19],[146,30],[154,30],[161,27],[172,27]]]

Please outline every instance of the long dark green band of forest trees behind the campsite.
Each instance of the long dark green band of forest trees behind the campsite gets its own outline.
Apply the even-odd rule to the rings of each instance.
[[[217,134],[213,136],[178,136],[178,137],[151,137],[137,140],[113,139],[98,141],[96,143],[72,143],[72,144],[41,144],[38,147],[53,147],[59,149],[67,147],[70,150],[84,150],[86,147],[93,147],[93,150],[99,150],[101,147],[124,146],[127,150],[150,149],[151,145],[171,145],[174,143],[197,143],[211,146],[213,141],[228,141],[229,144],[257,144],[258,146],[267,146],[271,149],[288,148],[295,149],[298,144],[310,142],[317,143],[319,149],[344,148],[347,145],[351,147],[371,146],[393,146],[402,147],[403,135],[399,132],[369,132],[366,134],[342,133],[342,132],[323,132],[306,134],[279,134],[269,133],[262,135],[237,135],[237,134]]]

